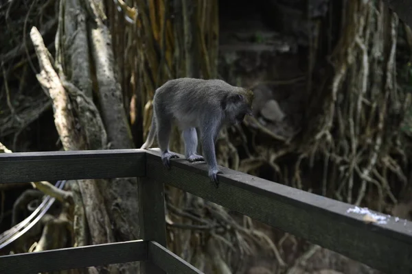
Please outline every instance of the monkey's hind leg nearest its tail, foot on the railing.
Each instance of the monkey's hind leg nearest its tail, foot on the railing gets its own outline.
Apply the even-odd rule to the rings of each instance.
[[[168,169],[170,169],[170,159],[179,158],[176,153],[170,152],[169,150],[169,138],[171,131],[171,121],[157,117],[157,142],[159,143],[160,151],[162,153],[161,161]]]

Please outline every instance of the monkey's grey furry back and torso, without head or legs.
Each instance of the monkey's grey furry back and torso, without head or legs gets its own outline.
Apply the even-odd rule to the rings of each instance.
[[[202,119],[222,119],[222,99],[236,90],[220,79],[172,79],[156,90],[153,104],[157,116],[172,118],[183,129],[198,127]]]

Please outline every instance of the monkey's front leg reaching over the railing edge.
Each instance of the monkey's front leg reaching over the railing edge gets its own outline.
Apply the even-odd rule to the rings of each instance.
[[[207,127],[205,127],[207,128]],[[203,153],[207,164],[209,165],[209,178],[218,187],[218,173],[222,173],[218,169],[218,163],[216,162],[216,151],[214,145],[214,139],[218,133],[218,128],[209,129],[209,132],[203,132],[202,134],[202,146]]]

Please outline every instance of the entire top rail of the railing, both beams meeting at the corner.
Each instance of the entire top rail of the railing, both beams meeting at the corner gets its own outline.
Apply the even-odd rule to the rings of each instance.
[[[386,216],[384,223],[365,222],[363,215],[348,212],[350,204],[223,167],[216,189],[209,182],[207,165],[187,162],[183,155],[171,166],[165,169],[158,149],[0,153],[0,183],[146,176],[385,273],[412,273],[409,221]]]

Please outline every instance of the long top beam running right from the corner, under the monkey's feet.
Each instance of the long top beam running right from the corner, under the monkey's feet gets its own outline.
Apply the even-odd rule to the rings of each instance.
[[[146,176],[225,208],[339,252],[385,273],[412,273],[412,224],[387,217],[387,224],[365,223],[347,213],[350,204],[221,168],[220,186],[207,177],[204,162],[171,161],[165,169],[157,149],[146,155]]]

